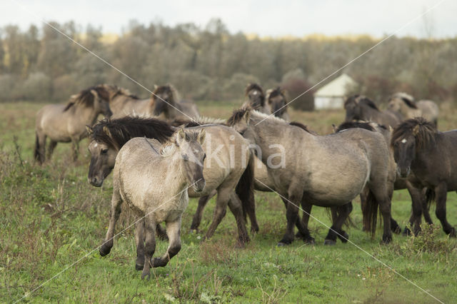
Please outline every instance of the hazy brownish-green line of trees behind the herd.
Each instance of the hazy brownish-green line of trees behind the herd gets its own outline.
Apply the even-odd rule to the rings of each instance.
[[[241,100],[249,82],[264,88],[286,87],[294,98],[379,41],[371,36],[261,39],[231,34],[219,19],[203,27],[146,26],[131,21],[109,41],[94,26],[82,29],[73,21],[51,24],[151,91],[154,84],[172,83],[182,96],[197,101]],[[395,91],[453,101],[456,49],[457,37],[394,36],[343,72],[359,83],[357,93],[378,103]],[[149,96],[144,88],[47,25],[31,25],[24,31],[14,25],[0,29],[0,101],[63,102],[96,83],[114,83]],[[312,91],[293,105],[312,109]]]

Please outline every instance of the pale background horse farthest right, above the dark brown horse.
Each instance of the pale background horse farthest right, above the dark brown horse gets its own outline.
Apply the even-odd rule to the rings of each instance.
[[[400,113],[404,119],[423,117],[438,126],[438,105],[433,101],[414,101],[413,96],[399,92],[389,98],[388,109]]]

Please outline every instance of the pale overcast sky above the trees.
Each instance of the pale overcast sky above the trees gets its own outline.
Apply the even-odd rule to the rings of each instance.
[[[260,36],[306,36],[309,34],[370,34],[383,36],[401,28],[441,0],[0,0],[0,26],[46,21],[76,21],[101,26],[104,32],[120,33],[130,20],[151,21],[174,26],[194,22],[204,26],[220,18],[231,33],[243,31]],[[22,9],[24,6],[26,10]],[[36,16],[34,16],[35,14]],[[424,18],[398,33],[398,36],[426,36],[424,24],[436,38],[457,36],[457,1],[444,0]]]

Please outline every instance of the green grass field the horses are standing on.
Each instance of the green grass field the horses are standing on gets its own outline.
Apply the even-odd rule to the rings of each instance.
[[[201,243],[201,234],[191,234],[195,199],[189,202],[182,228],[182,249],[165,268],[155,268],[151,280],[141,280],[134,269],[134,229],[116,238],[105,258],[98,250],[106,233],[111,178],[102,188],[87,182],[89,153],[81,143],[79,161],[71,161],[69,144],[59,144],[53,159],[35,166],[34,115],[42,105],[0,103],[0,302],[25,298],[30,302],[70,303],[433,303],[427,290],[445,303],[457,299],[457,242],[438,225],[424,228],[416,238],[394,235],[393,243],[381,245],[376,237],[361,231],[358,201],[352,213],[355,227],[346,229],[350,240],[367,253],[391,266],[389,270],[350,243],[324,246],[328,229],[310,220],[316,245],[277,248],[286,228],[282,201],[273,193],[256,193],[261,230],[251,236],[246,248],[236,248],[236,224],[228,212],[214,238]],[[226,118],[234,103],[200,103],[206,116]],[[457,127],[456,112],[442,109],[439,126]],[[331,123],[343,120],[342,111],[302,113],[293,120],[318,133],[330,133]],[[204,213],[201,230],[208,228],[214,200]],[[457,196],[448,194],[448,221],[457,224]],[[405,225],[411,211],[406,191],[393,196],[393,217]],[[330,224],[323,208],[313,216]],[[123,209],[117,231],[134,222]],[[159,241],[156,254],[166,250]],[[91,251],[93,250],[93,251]],[[78,262],[69,267],[72,263]],[[68,268],[68,269],[66,269]],[[63,272],[61,272],[64,270]],[[53,278],[55,276],[55,278]],[[416,284],[416,285],[413,285]]]

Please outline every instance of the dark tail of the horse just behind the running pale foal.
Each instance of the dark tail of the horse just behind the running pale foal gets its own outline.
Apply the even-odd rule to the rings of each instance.
[[[256,202],[254,201],[254,156],[251,150],[249,150],[248,166],[246,166],[243,175],[241,175],[241,178],[236,185],[235,192],[241,200],[244,218],[246,219],[246,213],[248,213],[251,217],[255,217]]]

